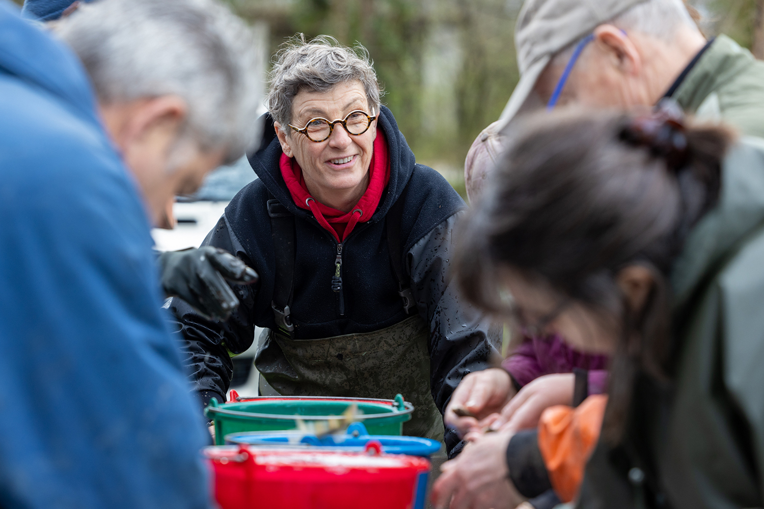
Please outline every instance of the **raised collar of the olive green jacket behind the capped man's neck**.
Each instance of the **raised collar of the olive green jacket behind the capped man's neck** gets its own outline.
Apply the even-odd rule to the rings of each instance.
[[[753,55],[726,35],[720,35],[692,66],[672,95],[681,108],[694,113],[708,95],[755,62]]]

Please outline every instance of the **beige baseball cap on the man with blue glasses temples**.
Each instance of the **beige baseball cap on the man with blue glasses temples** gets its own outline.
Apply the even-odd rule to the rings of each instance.
[[[598,25],[646,0],[526,0],[515,27],[520,82],[504,107],[504,125],[523,108],[552,56]]]

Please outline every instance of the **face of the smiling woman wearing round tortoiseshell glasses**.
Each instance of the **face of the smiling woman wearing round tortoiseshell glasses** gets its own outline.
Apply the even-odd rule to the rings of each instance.
[[[312,118],[342,120],[354,110],[370,116],[366,92],[360,81],[338,83],[327,92],[300,91],[292,103],[292,125],[302,129]],[[303,178],[312,195],[330,195],[358,189],[363,194],[374,153],[377,121],[358,136],[348,134],[342,124],[335,124],[327,140],[316,143],[289,126],[279,127],[279,140],[286,156],[294,157],[303,169]],[[359,188],[363,188],[362,190]]]

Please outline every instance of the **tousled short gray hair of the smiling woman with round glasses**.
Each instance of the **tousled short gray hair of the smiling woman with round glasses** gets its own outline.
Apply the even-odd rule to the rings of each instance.
[[[292,101],[300,90],[326,92],[338,83],[356,79],[364,85],[373,114],[379,114],[382,90],[366,48],[360,43],[353,48],[341,46],[328,35],[306,42],[305,36],[299,34],[286,43],[274,59],[268,111],[274,121],[286,126],[292,121]]]

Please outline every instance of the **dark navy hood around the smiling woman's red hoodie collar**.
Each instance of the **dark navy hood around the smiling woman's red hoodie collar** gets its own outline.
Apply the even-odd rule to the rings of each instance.
[[[254,172],[261,179],[268,192],[276,198],[281,205],[286,207],[290,213],[298,217],[310,217],[311,213],[295,205],[290,195],[289,188],[281,176],[279,159],[281,157],[281,145],[276,137],[273,118],[270,114],[264,115],[263,138],[261,140],[261,150],[257,150],[251,156],[248,156],[249,163]],[[377,128],[384,132],[387,138],[387,150],[390,157],[390,182],[387,189],[383,192],[380,205],[377,211],[371,217],[369,223],[380,221],[387,214],[390,207],[403,192],[403,188],[409,182],[414,170],[416,159],[413,152],[406,143],[398,124],[393,118],[393,113],[385,106],[380,108],[379,121]]]

